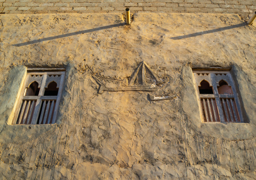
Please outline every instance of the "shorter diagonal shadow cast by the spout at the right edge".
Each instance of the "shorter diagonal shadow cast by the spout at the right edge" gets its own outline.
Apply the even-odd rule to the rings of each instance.
[[[199,33],[193,33],[193,34],[189,34],[189,35],[172,37],[171,39],[173,39],[173,40],[181,40],[181,39],[185,39],[185,38],[196,37],[196,36],[210,34],[210,33],[215,33],[215,32],[219,32],[219,31],[230,30],[230,29],[233,29],[233,28],[239,28],[239,27],[246,26],[246,25],[247,25],[246,23],[241,23],[241,24],[227,26],[227,27],[218,28],[218,29],[214,29],[214,30],[208,30],[208,31],[203,31],[203,32],[199,32]]]

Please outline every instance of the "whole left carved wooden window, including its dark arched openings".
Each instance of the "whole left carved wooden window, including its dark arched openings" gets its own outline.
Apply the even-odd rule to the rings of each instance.
[[[28,69],[13,124],[55,123],[64,79],[65,69]]]

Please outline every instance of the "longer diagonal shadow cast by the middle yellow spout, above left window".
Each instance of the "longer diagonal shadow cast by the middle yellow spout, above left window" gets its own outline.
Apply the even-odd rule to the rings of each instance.
[[[103,26],[103,27],[99,27],[99,28],[93,28],[93,29],[90,29],[90,30],[83,30],[83,31],[78,31],[78,32],[74,32],[74,33],[68,33],[68,34],[64,34],[64,35],[58,35],[58,36],[52,36],[52,37],[48,37],[48,38],[28,41],[28,42],[25,42],[25,43],[14,44],[12,46],[16,46],[16,47],[26,46],[26,45],[31,45],[31,44],[35,44],[35,43],[40,43],[40,42],[43,42],[43,41],[49,41],[49,40],[54,40],[54,39],[58,39],[58,38],[65,38],[65,37],[80,35],[80,34],[84,34],[84,33],[91,33],[91,32],[94,32],[94,31],[105,30],[105,29],[115,28],[115,27],[124,26],[124,25],[126,25],[126,24],[125,23],[118,23],[118,24],[114,24],[114,25],[108,25],[108,26]]]

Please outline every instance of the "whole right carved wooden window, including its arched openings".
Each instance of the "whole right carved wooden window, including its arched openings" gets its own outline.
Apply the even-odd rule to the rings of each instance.
[[[229,71],[193,71],[204,122],[243,122]]]

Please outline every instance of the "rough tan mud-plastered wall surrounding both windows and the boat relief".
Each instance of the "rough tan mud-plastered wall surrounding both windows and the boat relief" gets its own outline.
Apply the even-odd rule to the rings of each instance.
[[[3,179],[255,179],[254,26],[237,15],[1,16]],[[145,61],[170,76],[148,92],[98,94],[95,73],[125,78]],[[9,125],[25,67],[65,67],[57,124]],[[232,68],[248,123],[202,123],[191,67]]]

